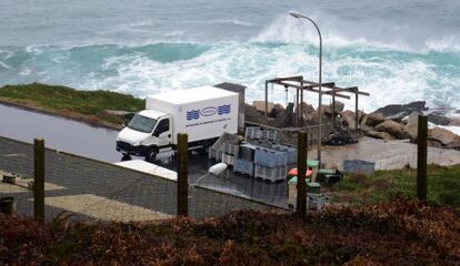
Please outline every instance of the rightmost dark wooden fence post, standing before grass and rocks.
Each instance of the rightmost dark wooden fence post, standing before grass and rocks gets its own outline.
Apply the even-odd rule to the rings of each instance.
[[[417,196],[427,201],[427,156],[428,156],[428,119],[419,115],[417,155]]]

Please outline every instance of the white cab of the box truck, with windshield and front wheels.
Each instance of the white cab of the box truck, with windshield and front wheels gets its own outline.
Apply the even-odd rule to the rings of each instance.
[[[171,115],[158,110],[143,110],[131,119],[117,136],[117,151],[153,161],[158,152],[172,145]]]

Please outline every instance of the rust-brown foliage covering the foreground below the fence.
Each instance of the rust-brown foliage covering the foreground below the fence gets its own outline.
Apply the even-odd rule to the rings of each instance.
[[[419,202],[327,208],[304,221],[242,211],[161,223],[40,226],[0,216],[10,265],[456,265],[460,213]]]

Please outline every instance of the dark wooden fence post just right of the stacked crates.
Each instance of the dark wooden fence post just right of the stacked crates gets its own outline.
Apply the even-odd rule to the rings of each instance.
[[[297,147],[297,214],[303,218],[307,213],[307,133],[299,132]]]

